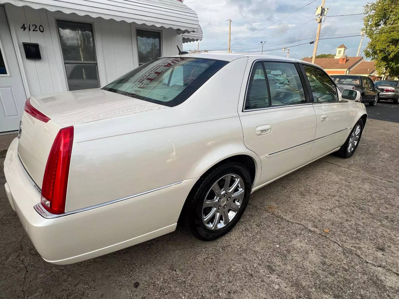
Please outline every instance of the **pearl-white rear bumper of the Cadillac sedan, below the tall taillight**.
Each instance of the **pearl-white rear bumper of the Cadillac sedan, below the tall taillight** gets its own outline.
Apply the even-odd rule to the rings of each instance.
[[[53,264],[81,262],[174,231],[180,209],[196,181],[182,181],[75,214],[44,218],[34,209],[40,203],[40,193],[18,158],[18,139],[7,151],[4,174],[10,205],[38,253]],[[158,212],[161,210],[163,213]]]

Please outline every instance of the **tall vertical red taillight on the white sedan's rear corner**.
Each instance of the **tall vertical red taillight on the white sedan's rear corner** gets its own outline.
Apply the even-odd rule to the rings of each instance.
[[[41,205],[53,214],[65,212],[73,126],[59,130],[51,147],[41,186]]]

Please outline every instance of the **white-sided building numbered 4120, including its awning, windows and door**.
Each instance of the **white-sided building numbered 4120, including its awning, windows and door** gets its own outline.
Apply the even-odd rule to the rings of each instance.
[[[180,0],[0,0],[0,132],[27,97],[104,86],[199,29]]]

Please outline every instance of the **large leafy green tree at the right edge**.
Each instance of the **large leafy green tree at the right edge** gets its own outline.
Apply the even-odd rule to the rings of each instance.
[[[366,57],[375,61],[379,74],[399,76],[399,5],[397,0],[377,0],[364,7],[364,33],[370,41]]]

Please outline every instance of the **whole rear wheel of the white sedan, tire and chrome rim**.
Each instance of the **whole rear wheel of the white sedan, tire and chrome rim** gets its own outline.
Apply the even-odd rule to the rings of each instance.
[[[196,238],[211,241],[225,235],[240,220],[251,194],[251,175],[245,165],[228,162],[199,180],[182,216]]]

